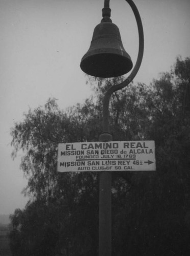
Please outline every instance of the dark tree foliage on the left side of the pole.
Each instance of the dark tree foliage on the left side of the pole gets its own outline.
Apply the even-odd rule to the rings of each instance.
[[[29,180],[24,193],[31,195],[25,210],[19,211],[19,215],[15,211],[12,216],[11,240],[15,256],[29,255],[29,248],[31,256],[52,255],[52,248],[54,252],[82,254],[89,250],[89,244],[92,255],[96,252],[97,174],[56,172],[58,142],[89,139],[91,134],[86,124],[89,122],[91,126],[94,122],[88,119],[92,110],[92,104],[86,101],[81,108],[78,104],[61,112],[56,100],[49,99],[44,107],[29,110],[24,121],[15,124],[13,157],[23,150],[21,168]],[[50,243],[52,237],[56,238],[56,244]]]

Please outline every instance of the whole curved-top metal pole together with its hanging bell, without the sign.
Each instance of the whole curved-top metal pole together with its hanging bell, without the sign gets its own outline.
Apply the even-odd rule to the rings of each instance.
[[[111,87],[103,98],[102,134],[99,141],[112,141],[109,130],[109,103],[111,95],[133,80],[141,66],[144,52],[144,33],[139,11],[132,0],[126,0],[130,5],[138,26],[139,52],[137,61],[132,69],[132,61],[122,45],[119,28],[112,23],[110,0],[104,0],[102,20],[93,33],[89,50],[80,62],[80,68],[88,75],[108,78],[130,75],[121,83]],[[112,173],[100,172],[99,176],[99,256],[112,254]]]

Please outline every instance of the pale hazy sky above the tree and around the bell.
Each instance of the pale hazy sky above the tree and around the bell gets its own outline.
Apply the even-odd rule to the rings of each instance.
[[[144,57],[134,82],[149,84],[170,71],[176,57],[190,56],[189,0],[133,0],[145,37]],[[103,0],[0,0],[0,214],[24,208],[27,180],[11,158],[10,129],[23,113],[55,97],[61,109],[83,103],[92,92],[80,70]],[[111,0],[111,18],[133,64],[138,30],[130,6]],[[127,75],[126,75],[127,77]]]

